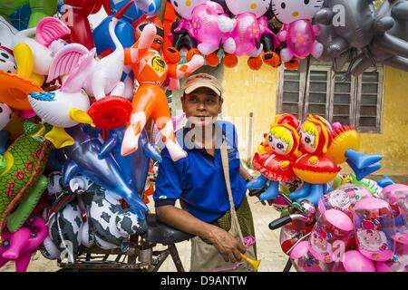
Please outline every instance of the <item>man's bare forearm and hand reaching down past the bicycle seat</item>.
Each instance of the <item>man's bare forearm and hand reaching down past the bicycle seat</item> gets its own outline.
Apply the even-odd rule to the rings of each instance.
[[[208,239],[226,262],[236,263],[241,260],[240,252],[245,253],[245,247],[226,230],[205,223],[193,217],[188,211],[174,206],[156,208],[156,214],[161,222],[180,231]]]

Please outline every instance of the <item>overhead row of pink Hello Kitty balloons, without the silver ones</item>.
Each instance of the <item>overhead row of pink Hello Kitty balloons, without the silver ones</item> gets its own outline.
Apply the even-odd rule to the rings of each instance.
[[[319,58],[323,45],[316,41],[317,26],[312,24],[323,1],[291,0],[171,0],[180,17],[173,24],[173,46],[201,53],[209,65],[223,63],[234,67],[238,56],[248,55],[248,65],[258,70],[262,63],[278,67],[285,63],[296,69],[297,59],[310,54]],[[281,22],[279,29],[274,20]],[[261,57],[262,56],[262,57]]]

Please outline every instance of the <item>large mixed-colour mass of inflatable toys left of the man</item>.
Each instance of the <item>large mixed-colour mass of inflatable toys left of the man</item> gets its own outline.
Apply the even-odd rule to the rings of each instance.
[[[27,4],[33,28],[18,30],[7,9]],[[93,29],[88,16],[102,7],[108,16]],[[200,55],[179,64],[177,50],[163,49],[159,8],[159,0],[0,3],[0,266],[14,260],[26,270],[43,242],[44,256],[57,258],[70,243],[123,248],[146,230],[142,194],[150,160],[161,157],[144,127],[152,118],[171,158],[186,156],[164,92],[204,64]]]

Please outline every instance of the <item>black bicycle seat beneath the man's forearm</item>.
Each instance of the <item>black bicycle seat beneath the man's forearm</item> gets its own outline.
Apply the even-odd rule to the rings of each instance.
[[[188,240],[194,235],[184,233],[173,227],[160,223],[157,216],[150,214],[146,217],[148,230],[144,238],[153,244],[170,245]]]

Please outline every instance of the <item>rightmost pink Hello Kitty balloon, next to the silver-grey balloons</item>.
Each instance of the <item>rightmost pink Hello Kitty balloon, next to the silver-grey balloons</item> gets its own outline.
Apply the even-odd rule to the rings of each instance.
[[[272,0],[272,11],[284,24],[278,34],[280,41],[287,42],[287,48],[280,53],[283,62],[294,56],[305,59],[312,54],[318,59],[322,55],[323,44],[316,41],[318,26],[310,21],[323,3],[323,0]]]

